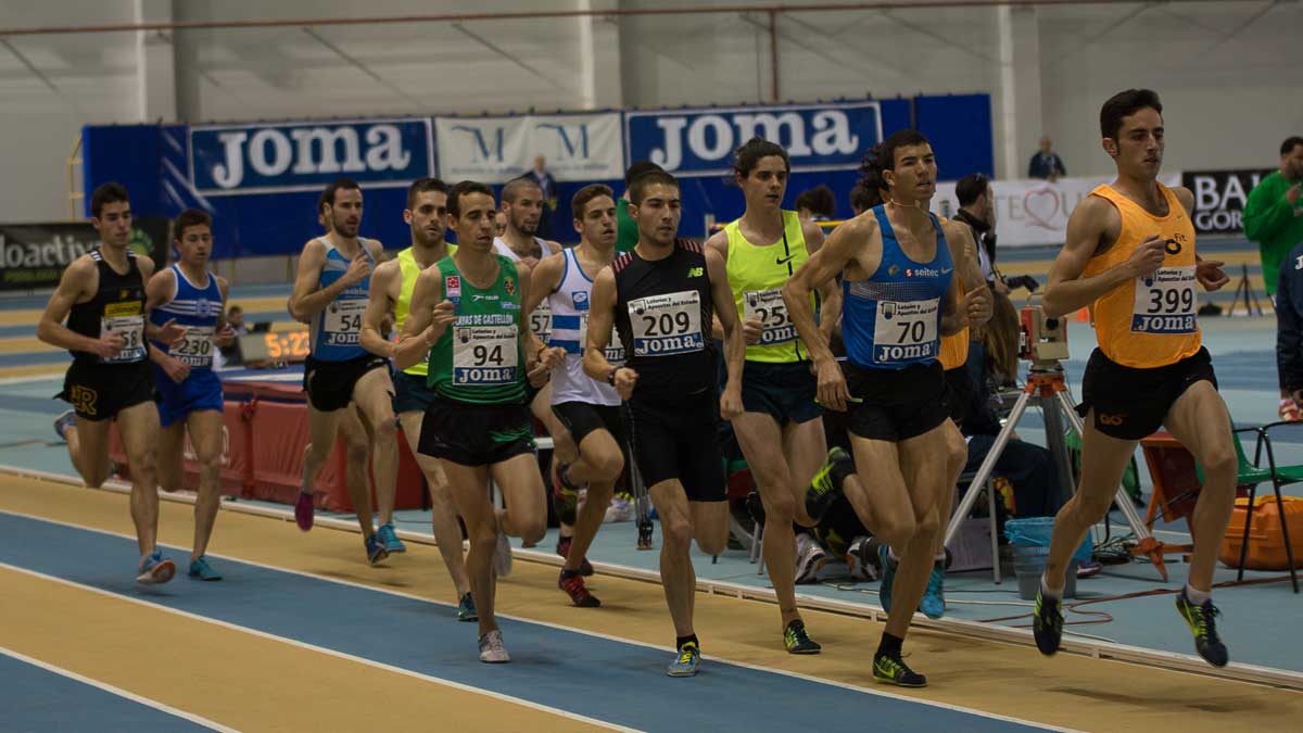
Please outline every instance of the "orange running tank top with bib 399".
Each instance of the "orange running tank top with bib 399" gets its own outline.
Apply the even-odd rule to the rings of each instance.
[[[1156,183],[1167,200],[1167,215],[1154,217],[1109,185],[1091,192],[1109,200],[1122,217],[1118,240],[1091,260],[1091,278],[1126,262],[1152,235],[1167,240],[1167,254],[1153,275],[1123,283],[1092,305],[1095,331],[1105,356],[1123,366],[1152,369],[1199,352],[1201,339],[1195,299],[1195,227],[1171,189]]]

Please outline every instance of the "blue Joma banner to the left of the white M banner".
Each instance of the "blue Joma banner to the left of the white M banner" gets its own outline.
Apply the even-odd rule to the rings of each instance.
[[[190,128],[190,183],[206,196],[317,190],[337,177],[405,187],[434,175],[429,119]]]

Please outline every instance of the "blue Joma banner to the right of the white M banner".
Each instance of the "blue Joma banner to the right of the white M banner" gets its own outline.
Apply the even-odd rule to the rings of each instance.
[[[734,149],[756,136],[786,147],[794,172],[850,170],[882,140],[882,111],[877,102],[855,102],[625,112],[625,164],[726,175]]]

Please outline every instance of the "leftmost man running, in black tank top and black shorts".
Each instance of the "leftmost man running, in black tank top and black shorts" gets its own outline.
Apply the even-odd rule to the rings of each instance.
[[[57,396],[73,406],[76,416],[61,415],[55,430],[68,441],[73,467],[86,485],[99,488],[109,471],[109,421],[117,420],[141,550],[136,582],[167,583],[176,565],[156,546],[159,412],[146,335],[172,342],[181,329],[168,323],[155,333],[146,326],[145,280],[154,274],[154,261],[128,247],[132,203],[126,189],[116,183],[100,185],[91,193],[90,211],[100,245],[64,270],[36,323],[36,338],[73,355]]]

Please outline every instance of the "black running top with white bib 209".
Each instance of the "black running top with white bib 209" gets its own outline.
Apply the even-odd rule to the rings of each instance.
[[[714,305],[701,245],[679,239],[668,257],[654,261],[631,250],[619,256],[611,270],[624,365],[638,373],[633,399],[684,402],[713,391]]]

